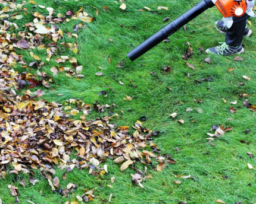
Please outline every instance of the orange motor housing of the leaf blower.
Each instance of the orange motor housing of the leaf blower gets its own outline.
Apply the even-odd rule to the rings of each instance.
[[[215,5],[225,18],[240,17],[246,11],[246,0],[217,0]]]

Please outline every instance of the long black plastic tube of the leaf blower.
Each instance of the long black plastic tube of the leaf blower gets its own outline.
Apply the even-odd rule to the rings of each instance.
[[[197,17],[199,14],[211,7],[214,7],[212,0],[202,0],[196,4],[195,7],[185,12],[185,14],[182,14],[179,18],[166,25],[166,27],[162,28],[153,36],[149,37],[148,40],[145,40],[145,42],[139,44],[139,46],[130,51],[127,56],[132,61],[139,58],[139,56],[143,55],[145,52],[148,52],[148,50],[150,50],[152,47],[162,42],[168,36],[179,30],[179,28],[181,28],[183,25],[193,20],[193,18]]]

